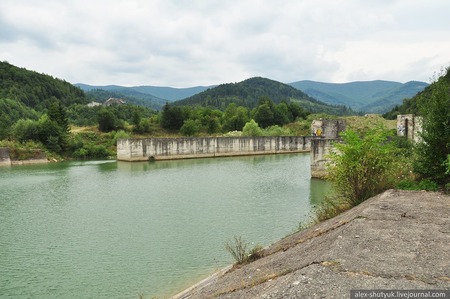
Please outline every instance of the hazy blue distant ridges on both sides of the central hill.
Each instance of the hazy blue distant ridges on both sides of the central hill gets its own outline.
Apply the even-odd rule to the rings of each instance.
[[[242,82],[245,81],[246,80]],[[281,82],[278,83],[283,84]],[[131,97],[133,100],[130,102],[134,102],[136,104],[140,102],[141,105],[143,104],[144,106],[160,110],[167,102],[184,100],[207,91],[208,89],[211,90],[216,87],[223,88],[223,86],[228,86],[229,84],[233,83],[212,86],[195,86],[188,88],[150,85],[132,87],[119,85],[94,86],[82,83],[77,83],[75,86],[80,87],[84,91],[88,92],[88,94],[94,89],[102,89],[112,92],[118,97],[120,97],[120,95],[123,97],[128,97],[129,101]],[[343,105],[350,107],[355,111],[361,112],[385,113],[396,105],[400,105],[403,99],[415,96],[418,92],[427,87],[428,83],[420,81],[399,83],[385,80],[325,83],[303,80],[292,82],[287,85],[290,85],[307,96],[322,103],[333,106]],[[268,92],[269,93],[266,95],[270,97],[270,91]],[[222,95],[222,97],[223,96],[224,95]]]

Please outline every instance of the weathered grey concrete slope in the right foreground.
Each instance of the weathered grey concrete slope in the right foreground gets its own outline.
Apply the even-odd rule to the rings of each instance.
[[[349,298],[352,289],[450,289],[450,196],[388,190],[174,298]]]

